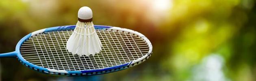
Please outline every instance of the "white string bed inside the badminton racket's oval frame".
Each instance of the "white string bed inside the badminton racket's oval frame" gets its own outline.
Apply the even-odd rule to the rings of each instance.
[[[149,51],[147,43],[127,32],[96,30],[102,51],[94,56],[72,55],[65,47],[72,30],[47,32],[30,37],[20,52],[25,60],[55,70],[92,70],[125,64],[141,58]]]

